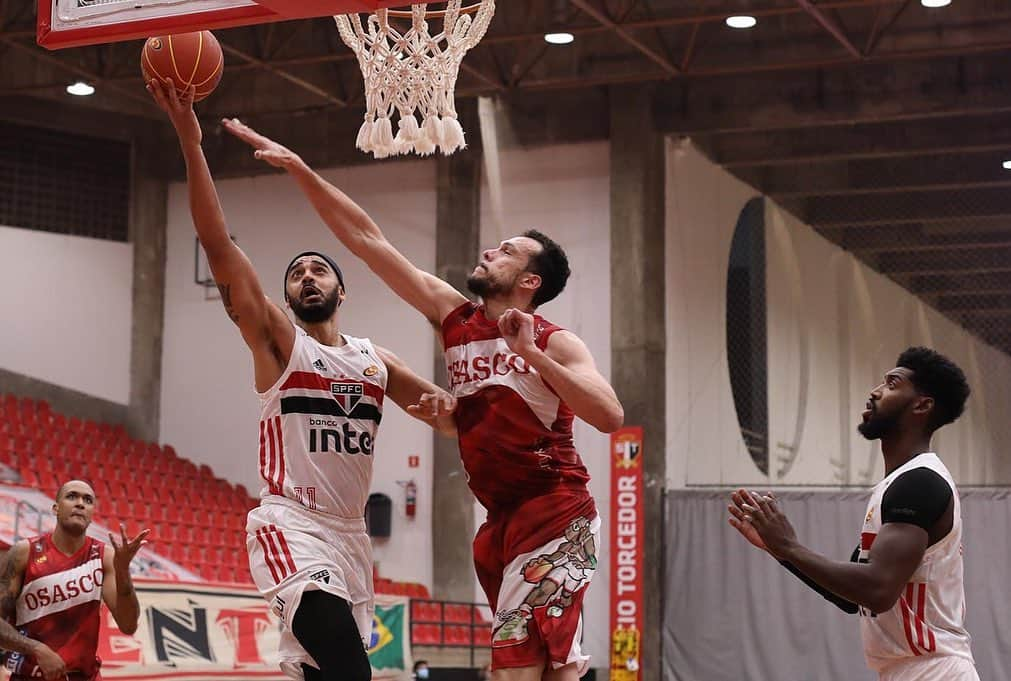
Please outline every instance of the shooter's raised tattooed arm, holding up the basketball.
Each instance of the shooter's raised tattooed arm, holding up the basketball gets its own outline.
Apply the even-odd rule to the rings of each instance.
[[[266,390],[287,366],[295,330],[287,315],[267,299],[246,254],[228,233],[207,160],[200,147],[200,123],[193,113],[193,88],[182,97],[171,82],[151,81],[148,90],[168,114],[186,161],[190,213],[207,254],[214,283],[228,318],[239,326],[253,353],[257,388]]]

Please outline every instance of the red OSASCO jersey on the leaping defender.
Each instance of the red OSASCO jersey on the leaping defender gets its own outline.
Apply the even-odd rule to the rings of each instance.
[[[534,316],[542,351],[561,330]],[[460,456],[470,489],[490,513],[570,488],[589,475],[572,443],[573,412],[537,370],[510,351],[484,308],[465,303],[443,320],[443,348]]]

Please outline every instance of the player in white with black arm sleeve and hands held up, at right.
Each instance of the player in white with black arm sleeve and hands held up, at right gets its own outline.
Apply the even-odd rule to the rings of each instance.
[[[933,432],[961,415],[962,371],[927,348],[910,348],[870,392],[862,422],[882,441],[885,479],[867,503],[848,563],[801,545],[771,494],[738,490],[730,523],[808,586],[859,613],[867,666],[885,681],[978,681],[966,630],[961,512]]]

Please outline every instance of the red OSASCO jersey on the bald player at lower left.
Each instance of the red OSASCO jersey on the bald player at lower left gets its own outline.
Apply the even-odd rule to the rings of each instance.
[[[104,545],[90,537],[73,556],[57,549],[52,534],[28,540],[28,564],[14,623],[23,636],[42,642],[63,658],[70,681],[94,678],[101,665],[96,653],[103,551]],[[42,676],[31,656],[7,653],[5,666],[15,679]]]

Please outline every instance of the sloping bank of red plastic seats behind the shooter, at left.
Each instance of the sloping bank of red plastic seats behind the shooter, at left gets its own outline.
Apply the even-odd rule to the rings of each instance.
[[[152,528],[153,551],[208,581],[252,582],[245,526],[257,499],[170,445],[133,440],[121,425],[68,417],[45,401],[3,395],[0,464],[17,472],[17,484],[51,497],[66,480],[86,480],[98,496],[97,522],[123,522],[130,532]],[[423,584],[374,577],[379,593],[430,597]]]

